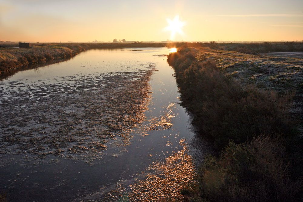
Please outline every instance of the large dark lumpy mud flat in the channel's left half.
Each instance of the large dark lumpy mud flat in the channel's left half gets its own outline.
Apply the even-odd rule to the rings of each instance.
[[[127,145],[132,128],[145,118],[153,65],[147,67],[58,78],[54,84],[38,81],[39,85],[27,84],[26,91],[22,82],[6,83],[0,89],[1,154],[53,154],[90,161],[102,157],[112,144]]]

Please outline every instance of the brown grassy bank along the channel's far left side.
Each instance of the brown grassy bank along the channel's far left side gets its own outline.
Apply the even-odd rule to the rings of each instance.
[[[25,68],[29,64],[45,63],[46,61],[60,58],[71,58],[82,51],[93,48],[143,48],[165,47],[161,43],[132,43],[132,44],[33,44],[33,48],[12,48],[17,44],[2,45],[0,48],[0,75],[9,75],[10,72],[19,68]]]

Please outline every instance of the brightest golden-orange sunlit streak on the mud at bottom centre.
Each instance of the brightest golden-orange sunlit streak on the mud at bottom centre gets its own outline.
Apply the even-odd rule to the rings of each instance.
[[[147,174],[145,179],[138,180],[130,185],[131,192],[128,199],[131,201],[158,201],[165,197],[177,197],[181,199],[179,190],[185,184],[193,182],[195,175],[195,164],[188,148],[180,140],[183,148],[174,155],[165,159],[165,162],[155,162],[148,170],[155,171],[155,174]]]

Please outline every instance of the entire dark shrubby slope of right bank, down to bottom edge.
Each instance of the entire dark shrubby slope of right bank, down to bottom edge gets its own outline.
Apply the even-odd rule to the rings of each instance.
[[[205,159],[197,184],[182,194],[189,201],[301,199],[301,151],[289,147],[298,135],[289,112],[295,93],[243,84],[205,50],[185,48],[168,56],[182,104],[220,154]]]

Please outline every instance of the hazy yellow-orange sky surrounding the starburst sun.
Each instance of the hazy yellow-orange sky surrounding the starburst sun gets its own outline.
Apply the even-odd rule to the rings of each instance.
[[[303,0],[0,0],[0,41],[303,40]]]

